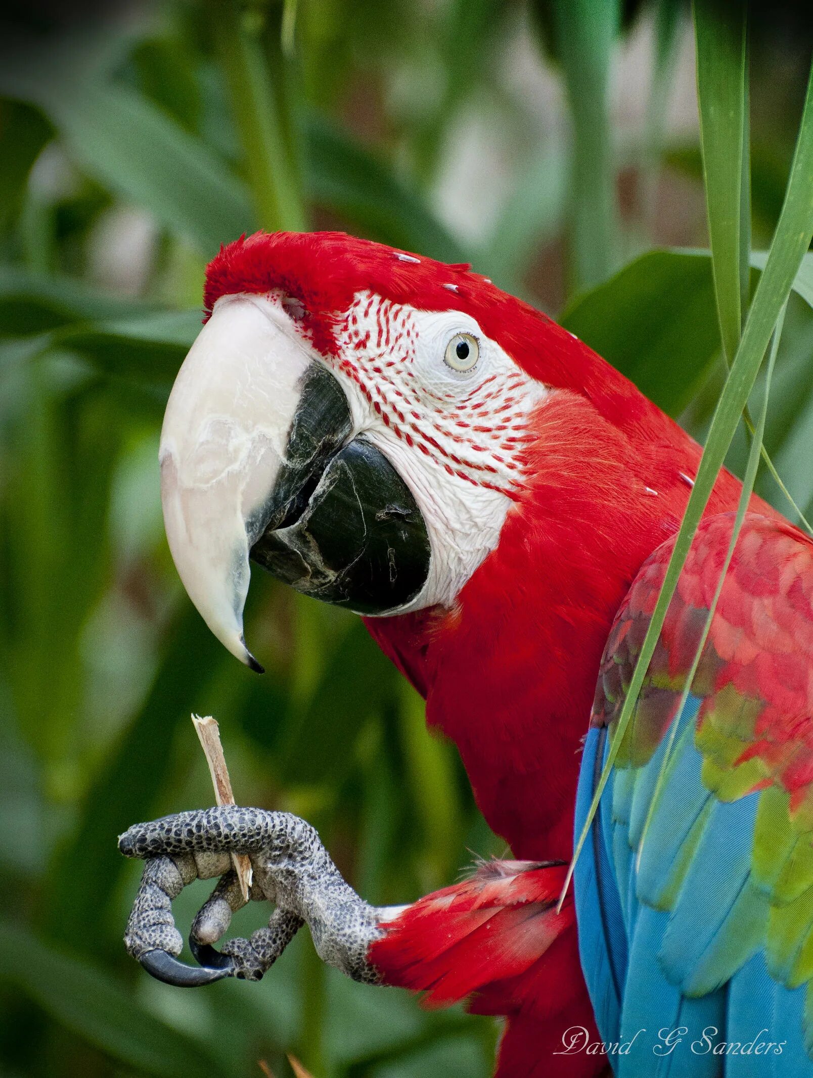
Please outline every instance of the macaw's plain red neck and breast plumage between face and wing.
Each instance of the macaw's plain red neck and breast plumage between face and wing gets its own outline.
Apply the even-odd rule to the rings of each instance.
[[[428,723],[457,745],[480,808],[516,857],[569,858],[604,645],[642,563],[679,525],[680,473],[697,471],[697,443],[639,401],[617,426],[581,396],[552,395],[527,496],[457,608],[367,622],[426,696]],[[733,508],[739,489],[722,473],[708,512]]]

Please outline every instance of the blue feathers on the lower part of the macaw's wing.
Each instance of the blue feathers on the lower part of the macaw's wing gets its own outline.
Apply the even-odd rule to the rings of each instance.
[[[698,706],[690,697],[680,722],[693,723]],[[639,866],[635,852],[660,750],[646,765],[610,775],[576,866],[579,948],[598,1029],[606,1044],[632,1040],[629,1053],[609,1061],[618,1078],[810,1078],[805,989],[773,980],[762,952],[753,954],[754,934],[743,930],[768,915],[767,896],[750,876],[757,798],[725,803],[709,796],[700,782],[702,758],[680,728],[673,754],[659,793],[669,811],[652,815]],[[577,834],[605,755],[602,732],[592,730]],[[687,843],[693,856],[681,861]],[[653,908],[664,896],[670,908]],[[728,975],[721,985],[720,969]],[[686,1033],[665,1052],[663,1037],[678,1028]],[[735,1050],[755,1037],[759,1053]],[[778,1054],[770,1054],[778,1042]]]

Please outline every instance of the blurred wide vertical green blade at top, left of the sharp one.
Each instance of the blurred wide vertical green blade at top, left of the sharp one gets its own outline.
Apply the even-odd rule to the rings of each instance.
[[[556,45],[574,125],[571,292],[597,285],[617,264],[618,222],[610,141],[609,73],[618,0],[555,0]]]

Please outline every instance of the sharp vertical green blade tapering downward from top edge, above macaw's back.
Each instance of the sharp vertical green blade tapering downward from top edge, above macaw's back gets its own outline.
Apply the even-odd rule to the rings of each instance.
[[[743,179],[747,160],[745,8],[726,17],[704,2],[694,5],[698,108],[703,154],[712,272],[722,354],[731,365],[742,331],[742,279],[748,251],[743,243]]]

